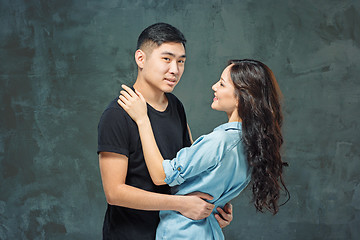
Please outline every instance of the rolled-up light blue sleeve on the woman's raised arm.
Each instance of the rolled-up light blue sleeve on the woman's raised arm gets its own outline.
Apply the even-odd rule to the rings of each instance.
[[[190,147],[181,149],[174,159],[163,161],[165,182],[170,186],[180,185],[188,178],[210,171],[231,148],[227,145],[225,132],[199,137]]]

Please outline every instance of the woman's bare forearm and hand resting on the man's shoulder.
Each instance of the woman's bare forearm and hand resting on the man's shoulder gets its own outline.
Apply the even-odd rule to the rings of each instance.
[[[121,91],[119,105],[136,122],[139,129],[141,145],[144,152],[146,166],[150,177],[155,185],[164,185],[165,173],[162,166],[164,158],[156,144],[151,123],[147,115],[147,106],[144,97],[140,92],[134,92],[131,88],[122,85],[126,91]]]

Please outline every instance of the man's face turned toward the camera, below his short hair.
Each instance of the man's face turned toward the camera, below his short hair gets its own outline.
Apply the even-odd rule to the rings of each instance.
[[[163,43],[146,54],[143,77],[150,87],[172,92],[184,72],[185,60],[182,43]]]

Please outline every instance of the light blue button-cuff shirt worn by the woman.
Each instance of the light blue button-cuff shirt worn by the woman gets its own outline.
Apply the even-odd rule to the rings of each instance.
[[[225,123],[181,149],[172,160],[164,160],[165,182],[173,194],[203,192],[210,202],[224,207],[248,185],[250,169],[241,141],[241,123]],[[224,239],[214,216],[191,220],[176,211],[160,211],[156,239]]]

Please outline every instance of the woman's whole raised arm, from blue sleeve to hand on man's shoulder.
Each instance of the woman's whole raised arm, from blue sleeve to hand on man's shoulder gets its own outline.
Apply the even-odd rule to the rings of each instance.
[[[155,142],[144,97],[127,86],[122,87],[126,91],[120,92],[119,105],[138,125],[145,162],[154,184],[179,185],[219,163],[226,150],[224,133],[220,131],[199,137],[191,147],[178,151],[175,158],[164,160]]]

